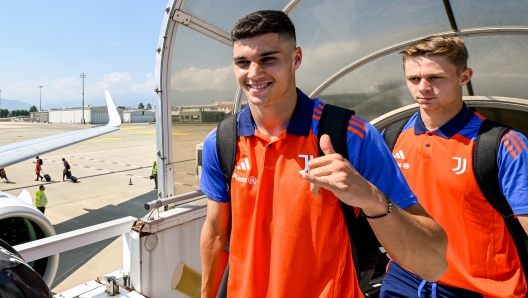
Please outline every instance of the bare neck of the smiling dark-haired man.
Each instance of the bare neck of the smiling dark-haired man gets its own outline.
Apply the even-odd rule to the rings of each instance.
[[[290,123],[296,104],[297,91],[293,88],[293,92],[288,92],[277,104],[272,106],[255,106],[249,104],[249,108],[258,130],[270,139],[274,139]]]

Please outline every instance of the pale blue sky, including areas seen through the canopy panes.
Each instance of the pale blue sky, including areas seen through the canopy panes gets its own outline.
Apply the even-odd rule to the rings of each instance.
[[[473,7],[478,1],[466,0],[463,2],[469,4],[454,5],[457,16],[472,16],[471,23],[460,17],[460,28],[525,23],[526,2],[510,0],[507,3],[511,7],[501,8],[496,2],[486,1],[487,10],[514,12],[509,15],[511,19],[498,18],[502,21],[496,23],[485,14],[475,15]],[[247,13],[257,9],[282,9],[288,2],[188,0],[184,11],[229,32],[232,24]],[[80,106],[82,80],[79,75],[84,72],[85,104],[104,104],[105,89],[119,105],[127,105],[127,100],[130,106],[140,100],[149,103],[144,98],[154,104],[156,48],[168,3],[168,0],[0,0],[2,98],[38,106],[37,86],[43,86],[44,109],[52,103],[72,102],[63,107]],[[451,30],[441,1],[305,0],[290,17],[296,25],[297,44],[303,49],[303,62],[296,73],[297,86],[308,94],[358,59],[402,41]],[[516,36],[515,40],[523,38]],[[482,43],[481,39],[491,42]],[[465,40],[471,52],[469,61],[475,70],[489,64],[479,49],[503,52],[495,45],[504,42],[487,37]],[[523,45],[524,41],[521,50]],[[228,45],[179,26],[170,74],[173,105],[232,101],[237,87],[232,51]],[[507,57],[520,59],[522,55],[515,53]],[[524,74],[524,63],[508,65],[520,68],[511,72]],[[494,69],[476,73],[473,80],[476,91],[489,85],[479,84],[478,76],[493,73]],[[397,53],[355,69],[321,96],[371,96],[383,94],[385,89],[394,86],[406,88],[401,57]],[[503,89],[508,92],[501,94],[512,94],[509,91],[512,88]]]

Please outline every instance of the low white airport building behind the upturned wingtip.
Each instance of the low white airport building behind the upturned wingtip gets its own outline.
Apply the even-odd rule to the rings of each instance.
[[[117,107],[117,112],[123,121],[122,107]],[[79,108],[64,108],[52,109],[48,111],[49,123],[81,123],[83,109]],[[108,110],[106,106],[88,106],[84,108],[84,122],[90,124],[106,124],[108,123]]]

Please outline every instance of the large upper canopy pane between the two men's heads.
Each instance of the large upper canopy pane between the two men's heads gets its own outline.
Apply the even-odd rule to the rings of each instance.
[[[442,1],[305,0],[290,17],[304,54],[297,85],[308,94],[346,65],[373,52],[451,31]]]

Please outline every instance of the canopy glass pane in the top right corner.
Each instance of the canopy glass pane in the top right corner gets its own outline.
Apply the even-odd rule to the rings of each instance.
[[[527,1],[451,0],[458,29],[491,26],[527,26]]]

